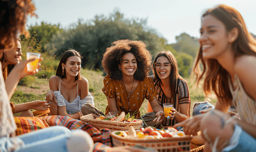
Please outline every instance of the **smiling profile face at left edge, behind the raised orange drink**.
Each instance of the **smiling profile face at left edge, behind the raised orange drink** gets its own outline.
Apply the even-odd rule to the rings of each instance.
[[[6,51],[5,54],[7,56],[7,64],[18,64],[20,61],[21,52],[21,44],[17,41],[17,49],[11,49],[10,51]]]

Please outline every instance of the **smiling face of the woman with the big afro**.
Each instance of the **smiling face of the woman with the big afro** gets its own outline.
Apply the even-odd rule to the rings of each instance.
[[[133,75],[137,70],[137,60],[135,56],[132,53],[124,54],[121,59],[119,68],[121,68],[123,77],[125,75]]]

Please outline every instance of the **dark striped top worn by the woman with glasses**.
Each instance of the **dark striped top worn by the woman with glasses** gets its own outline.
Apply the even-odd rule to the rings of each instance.
[[[155,75],[150,75],[149,77],[153,80],[153,82],[155,84],[157,100],[161,106],[163,106],[163,103],[172,103],[173,107],[178,112],[180,112],[180,104],[189,104],[188,115],[190,115],[190,96],[189,96],[189,89],[188,89],[188,85],[187,85],[186,81],[181,80],[181,79],[176,79],[176,84],[175,84],[176,90],[175,90],[174,97],[166,98],[162,91],[162,88],[160,86],[160,82],[155,79]],[[170,120],[170,119],[164,118],[162,125],[173,126],[177,123],[179,123],[179,122],[177,122],[175,119]]]

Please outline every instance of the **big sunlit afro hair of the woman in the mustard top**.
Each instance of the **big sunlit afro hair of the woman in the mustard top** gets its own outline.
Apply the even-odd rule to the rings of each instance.
[[[106,49],[101,61],[104,71],[113,80],[122,80],[123,75],[119,66],[124,54],[132,53],[137,60],[137,71],[134,73],[135,80],[144,80],[150,72],[151,53],[146,49],[142,41],[118,40]]]

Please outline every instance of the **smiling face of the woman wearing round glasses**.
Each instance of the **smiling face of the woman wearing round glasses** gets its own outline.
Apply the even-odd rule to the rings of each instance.
[[[164,66],[164,63],[170,63],[169,59],[165,56],[160,56],[156,59],[156,63],[154,63],[154,64],[157,64],[157,63],[161,64],[160,68],[156,68],[156,73],[157,73],[158,77],[161,80],[169,79],[170,71],[172,70],[172,65],[169,65],[168,68],[167,68],[167,66]]]

